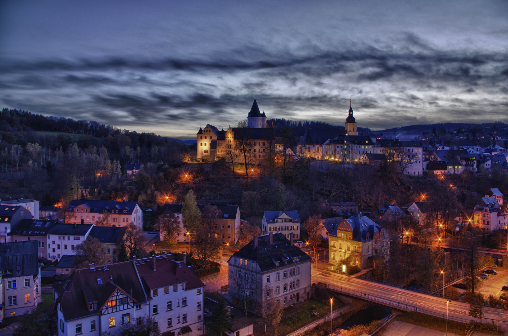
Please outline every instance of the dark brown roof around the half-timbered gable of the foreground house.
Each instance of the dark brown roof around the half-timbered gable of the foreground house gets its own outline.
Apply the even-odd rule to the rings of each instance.
[[[98,278],[101,278],[102,285],[98,283]],[[132,261],[76,270],[61,286],[61,312],[66,321],[97,314],[117,287],[136,303],[146,301]],[[97,301],[97,310],[88,311],[85,297]]]

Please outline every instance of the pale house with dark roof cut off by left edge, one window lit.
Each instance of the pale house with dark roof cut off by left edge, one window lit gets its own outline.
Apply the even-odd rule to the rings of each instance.
[[[26,309],[41,302],[41,267],[37,257],[37,242],[0,244],[0,321],[23,315]]]

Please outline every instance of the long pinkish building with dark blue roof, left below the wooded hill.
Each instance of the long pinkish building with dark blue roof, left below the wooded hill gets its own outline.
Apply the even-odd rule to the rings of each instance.
[[[70,223],[98,226],[122,226],[133,222],[143,227],[143,212],[137,202],[74,199],[69,204],[66,216]],[[105,220],[104,220],[105,219]]]

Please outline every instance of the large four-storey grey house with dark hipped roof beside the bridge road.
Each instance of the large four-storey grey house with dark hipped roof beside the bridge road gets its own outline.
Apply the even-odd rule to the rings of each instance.
[[[293,237],[281,232],[254,236],[228,260],[233,303],[246,300],[248,310],[263,315],[272,305],[283,309],[310,298],[310,262]]]

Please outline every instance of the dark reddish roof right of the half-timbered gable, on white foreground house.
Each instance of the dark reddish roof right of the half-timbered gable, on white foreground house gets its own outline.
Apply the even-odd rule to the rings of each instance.
[[[187,266],[181,261],[175,261],[172,254],[156,257],[156,271],[153,271],[152,258],[136,260],[136,268],[147,289],[172,286],[182,282],[186,282],[185,289],[204,286],[194,273],[194,267]]]

